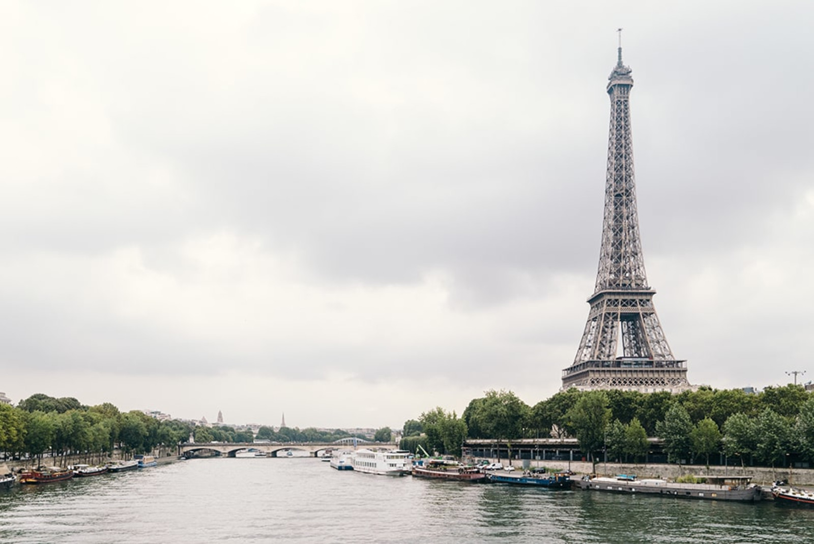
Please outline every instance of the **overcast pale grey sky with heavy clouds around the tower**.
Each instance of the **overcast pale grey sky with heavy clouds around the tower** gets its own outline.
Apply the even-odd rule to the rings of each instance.
[[[814,4],[0,4],[0,390],[300,428],[556,393],[624,27],[689,381],[785,384],[814,302]]]

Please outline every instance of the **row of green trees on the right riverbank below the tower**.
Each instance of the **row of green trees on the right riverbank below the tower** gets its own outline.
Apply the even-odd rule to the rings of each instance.
[[[741,466],[814,466],[814,394],[802,385],[760,394],[701,387],[681,394],[562,391],[533,407],[511,391],[487,391],[462,416],[436,407],[404,426],[403,449],[461,455],[468,438],[575,437],[592,463],[639,462],[658,437],[667,461],[723,456]],[[419,448],[421,446],[421,448]]]

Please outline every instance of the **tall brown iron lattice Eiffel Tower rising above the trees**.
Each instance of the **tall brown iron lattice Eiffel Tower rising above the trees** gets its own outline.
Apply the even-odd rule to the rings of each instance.
[[[591,309],[580,348],[574,363],[562,371],[562,390],[692,389],[686,361],[672,355],[653,306],[655,291],[647,285],[633,176],[630,73],[619,44],[619,60],[607,85],[610,133],[597,283],[588,299]]]

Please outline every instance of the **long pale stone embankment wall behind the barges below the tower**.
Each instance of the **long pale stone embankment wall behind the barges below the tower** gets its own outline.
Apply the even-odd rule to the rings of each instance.
[[[493,459],[497,461],[497,459]],[[506,464],[506,459],[501,459],[501,463]],[[522,468],[522,462],[512,459],[515,468]],[[566,470],[567,461],[532,461],[531,467],[541,466]],[[592,464],[582,461],[571,461],[571,470],[578,474],[589,474]],[[675,478],[685,474],[696,476],[751,476],[755,484],[771,485],[777,480],[788,481],[792,485],[814,486],[814,469],[812,468],[766,468],[766,467],[746,467],[740,465],[729,467],[707,467],[704,465],[681,465],[676,464],[627,464],[627,463],[597,463],[597,473],[603,476],[615,476],[616,474],[636,474],[637,477],[662,477]]]

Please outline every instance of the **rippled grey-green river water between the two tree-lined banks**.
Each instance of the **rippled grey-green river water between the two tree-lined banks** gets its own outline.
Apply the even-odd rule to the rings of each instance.
[[[0,491],[0,542],[814,542],[814,510],[190,459]]]

